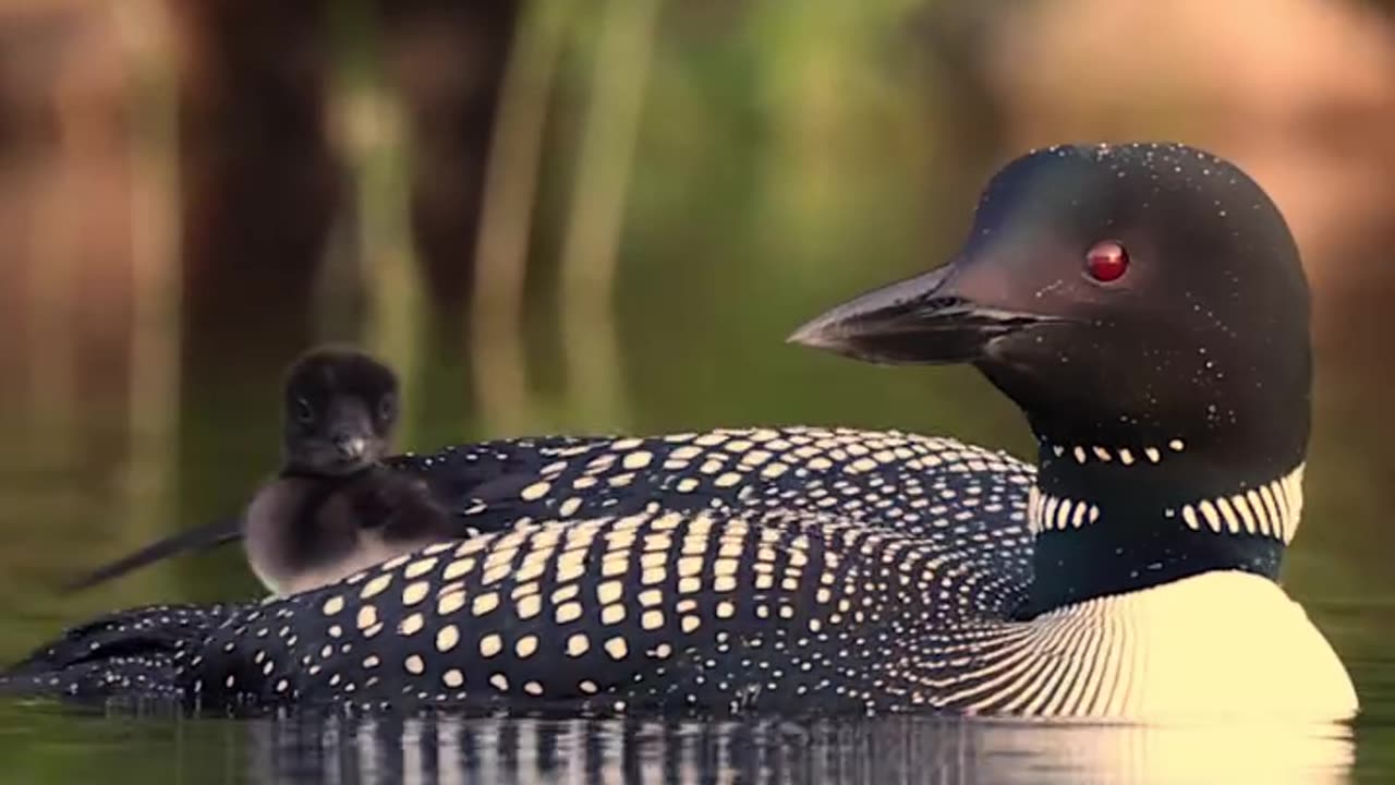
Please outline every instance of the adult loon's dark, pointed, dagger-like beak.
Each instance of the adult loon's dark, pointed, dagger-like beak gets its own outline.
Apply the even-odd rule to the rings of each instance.
[[[829,310],[788,342],[875,363],[963,363],[1004,335],[1053,317],[1003,310],[971,296],[960,265],[868,292]],[[982,281],[981,281],[982,284]]]

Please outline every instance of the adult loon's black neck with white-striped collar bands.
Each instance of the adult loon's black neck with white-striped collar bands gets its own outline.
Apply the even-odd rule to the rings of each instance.
[[[1201,573],[1276,580],[1303,508],[1303,464],[1240,468],[1158,446],[1042,441],[1028,501],[1034,580],[1021,616]]]

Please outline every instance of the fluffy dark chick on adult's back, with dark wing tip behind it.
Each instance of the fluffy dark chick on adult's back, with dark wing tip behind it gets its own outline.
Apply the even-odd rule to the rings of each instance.
[[[292,365],[283,395],[283,465],[244,515],[156,542],[75,588],[241,538],[252,573],[273,594],[289,595],[458,534],[420,476],[381,462],[398,422],[391,369],[354,349],[322,346]]]

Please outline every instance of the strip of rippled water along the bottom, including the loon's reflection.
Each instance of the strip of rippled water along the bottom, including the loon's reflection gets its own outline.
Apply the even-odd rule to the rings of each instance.
[[[61,729],[61,732],[59,732]],[[95,719],[10,708],[15,781],[110,782],[1346,782],[1391,729],[1130,728],[936,718]]]

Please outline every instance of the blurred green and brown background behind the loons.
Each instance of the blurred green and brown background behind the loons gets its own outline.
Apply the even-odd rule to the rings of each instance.
[[[1175,138],[1279,203],[1314,288],[1290,591],[1395,717],[1395,24],[1339,0],[6,0],[0,658],[236,549],[56,587],[236,511],[283,366],[403,374],[403,448],[749,423],[1025,454],[967,369],[784,345],[937,265],[986,176]],[[1391,765],[1395,740],[1363,744]]]

